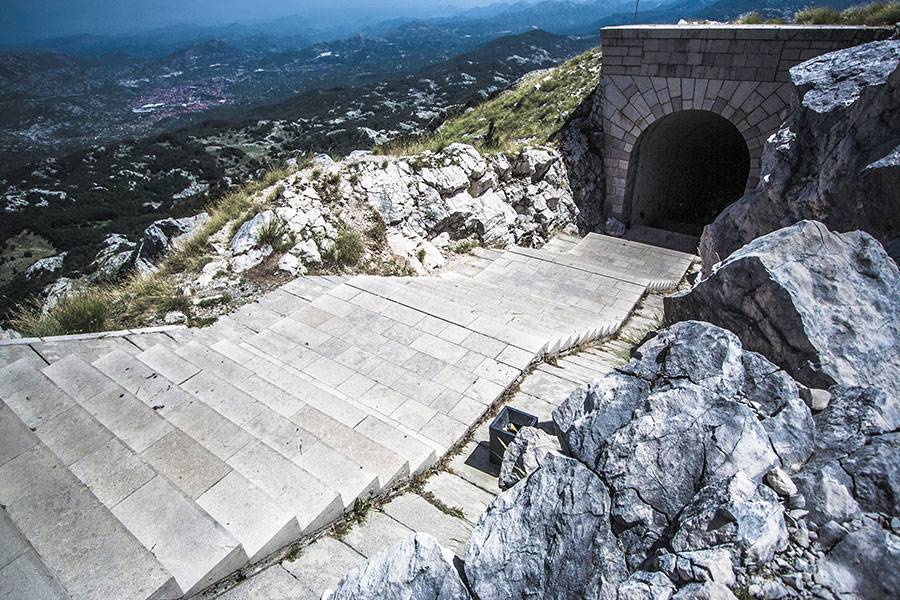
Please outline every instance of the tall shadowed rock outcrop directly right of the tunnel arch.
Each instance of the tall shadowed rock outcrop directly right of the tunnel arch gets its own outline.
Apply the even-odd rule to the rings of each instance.
[[[703,232],[704,269],[802,219],[900,236],[900,40],[825,54],[791,69],[801,97],[769,140],[760,184]]]

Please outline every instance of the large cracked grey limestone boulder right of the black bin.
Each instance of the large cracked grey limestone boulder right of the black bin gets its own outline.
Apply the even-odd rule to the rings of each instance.
[[[671,535],[697,490],[738,474],[755,490],[773,468],[793,472],[815,433],[788,375],[733,333],[697,321],[646,341],[616,372],[576,390],[554,421],[566,450],[609,487],[632,567]],[[769,488],[759,494],[777,504]]]

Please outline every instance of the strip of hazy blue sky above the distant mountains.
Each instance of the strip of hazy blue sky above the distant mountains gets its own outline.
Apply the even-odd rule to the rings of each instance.
[[[329,23],[445,12],[496,0],[0,0],[0,40],[120,33],[181,23],[227,24],[288,15]]]

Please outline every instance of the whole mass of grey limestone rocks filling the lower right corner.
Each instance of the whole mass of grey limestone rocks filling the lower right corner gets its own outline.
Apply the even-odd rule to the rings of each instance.
[[[472,596],[890,596],[900,404],[833,386],[813,416],[802,389],[715,325],[658,332],[554,412],[571,456],[536,459],[482,514]]]

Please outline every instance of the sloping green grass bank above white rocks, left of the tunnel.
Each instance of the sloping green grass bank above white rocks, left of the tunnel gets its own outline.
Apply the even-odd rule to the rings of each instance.
[[[526,76],[516,87],[448,119],[431,136],[398,138],[375,151],[410,156],[461,142],[493,153],[548,143],[597,87],[599,76],[600,48],[593,48],[554,69]]]

